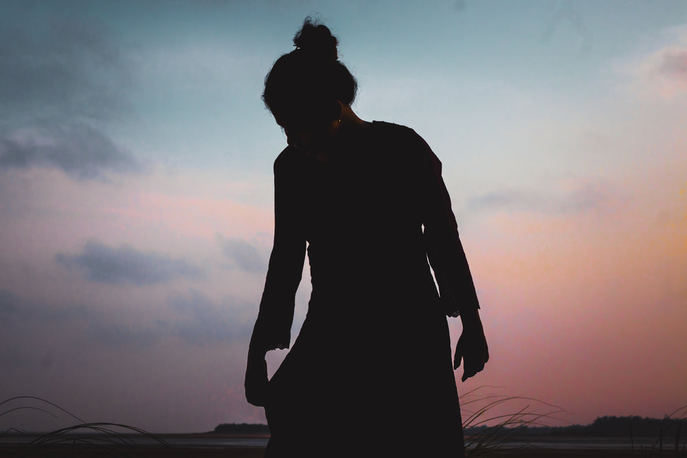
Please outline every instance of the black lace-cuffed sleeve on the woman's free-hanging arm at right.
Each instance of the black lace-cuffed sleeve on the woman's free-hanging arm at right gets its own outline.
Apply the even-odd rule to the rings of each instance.
[[[458,236],[458,225],[451,210],[451,199],[441,176],[441,161],[422,141],[423,225],[429,264],[439,286],[444,311],[457,317],[461,311],[480,308],[465,252]]]

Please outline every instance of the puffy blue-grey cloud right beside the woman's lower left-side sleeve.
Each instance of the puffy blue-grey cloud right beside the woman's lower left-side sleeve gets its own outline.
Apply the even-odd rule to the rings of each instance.
[[[174,333],[183,341],[201,346],[230,343],[236,339],[247,341],[256,314],[256,309],[247,301],[232,297],[219,307],[194,289],[186,294],[172,295],[169,305],[181,314],[181,319],[172,325]]]

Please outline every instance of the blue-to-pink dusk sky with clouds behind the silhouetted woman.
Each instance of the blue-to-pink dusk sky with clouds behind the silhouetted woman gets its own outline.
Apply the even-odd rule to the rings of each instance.
[[[265,422],[243,376],[286,139],[260,94],[308,15],[339,36],[354,111],[443,163],[491,353],[456,371],[463,399],[534,398],[559,425],[686,406],[683,0],[3,1],[0,402]],[[0,431],[74,423],[14,407],[55,416]]]

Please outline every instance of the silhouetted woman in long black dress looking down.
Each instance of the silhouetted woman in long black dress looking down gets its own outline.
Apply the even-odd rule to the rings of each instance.
[[[475,375],[488,350],[441,163],[413,130],[352,111],[357,82],[327,27],[306,19],[293,42],[263,93],[289,144],[245,381],[265,407],[265,456],[460,457],[453,369],[462,359],[462,380]],[[268,381],[266,352],[291,343],[306,245],[308,314]]]

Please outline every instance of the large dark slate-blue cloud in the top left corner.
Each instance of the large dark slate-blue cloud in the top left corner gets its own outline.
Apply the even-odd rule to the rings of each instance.
[[[93,21],[2,27],[2,117],[107,120],[126,113],[131,72],[106,34],[106,27]]]

